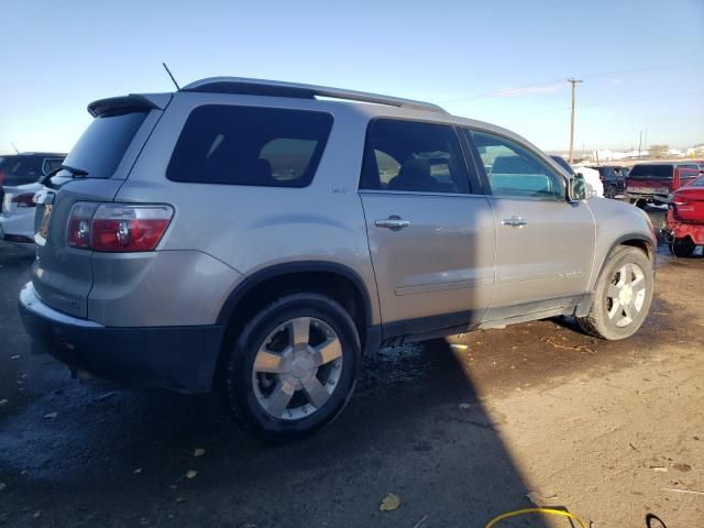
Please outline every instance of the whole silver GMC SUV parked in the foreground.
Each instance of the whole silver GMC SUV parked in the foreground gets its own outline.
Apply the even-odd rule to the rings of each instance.
[[[622,339],[650,307],[646,215],[498,127],[240,78],[88,110],[20,294],[75,374],[220,388],[287,440],[342,410],[382,344],[552,316]]]

